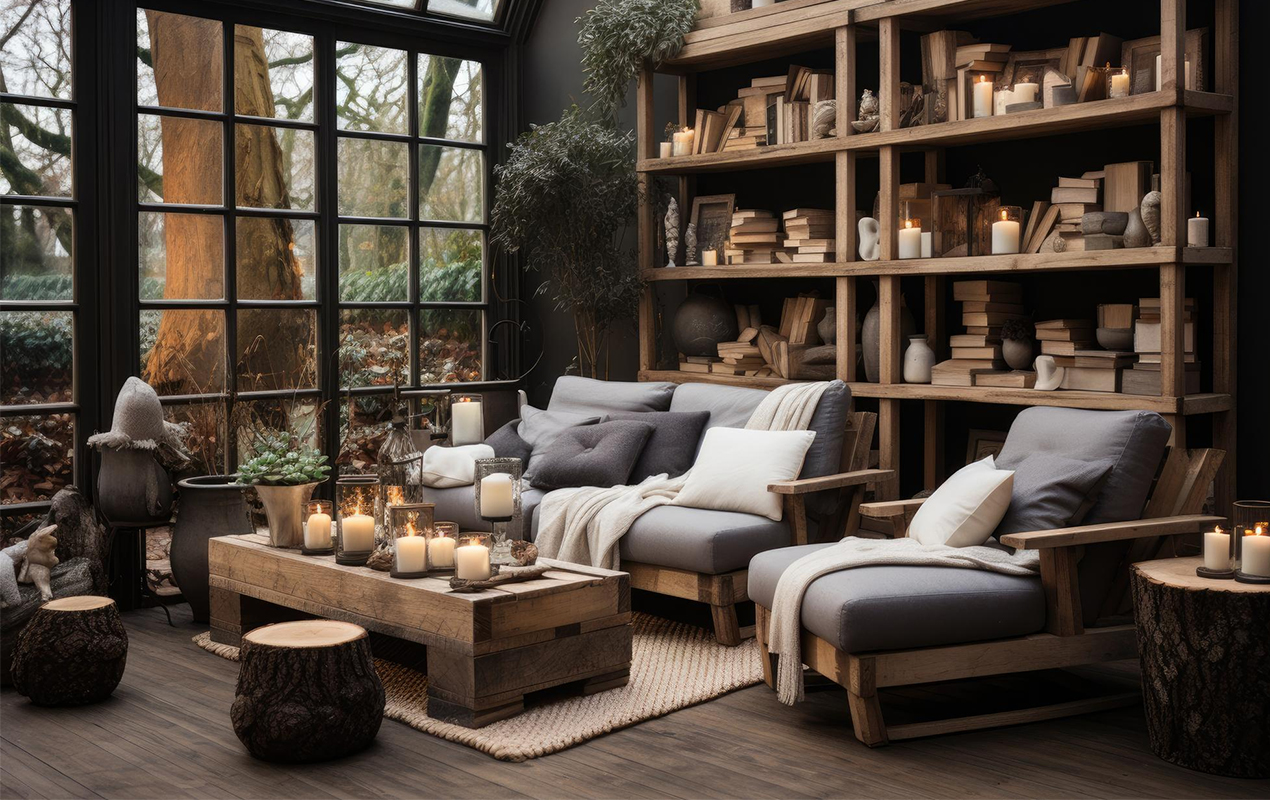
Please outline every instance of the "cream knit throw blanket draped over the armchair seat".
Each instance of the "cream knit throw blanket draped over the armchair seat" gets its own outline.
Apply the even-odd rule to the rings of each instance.
[[[922,545],[914,538],[857,538],[810,552],[789,565],[776,583],[767,649],[780,657],[776,692],[787,706],[803,700],[803,596],[817,578],[855,566],[917,565],[983,569],[1006,575],[1034,575],[1040,570],[1035,550],[1010,552],[979,545],[949,547]]]

